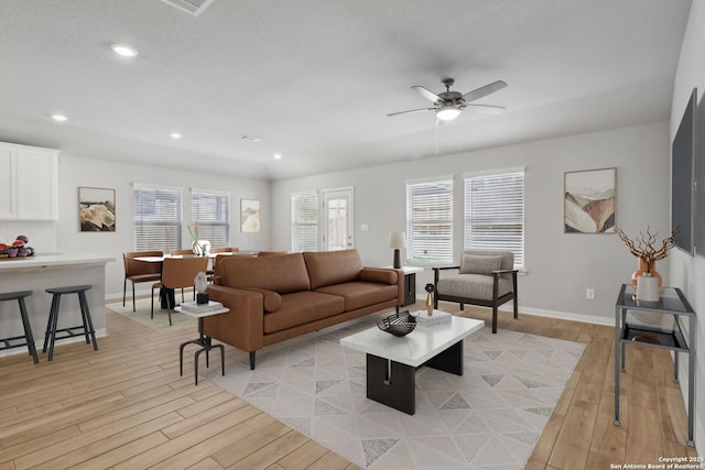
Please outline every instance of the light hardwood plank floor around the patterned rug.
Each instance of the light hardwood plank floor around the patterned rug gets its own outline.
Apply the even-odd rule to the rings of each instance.
[[[463,315],[489,321],[487,309]],[[0,470],[358,468],[206,380],[194,386],[192,353],[180,378],[177,345],[195,328],[156,334],[110,310],[107,325],[97,352],[74,343],[57,347],[51,363],[46,354],[39,365],[24,353],[0,358]],[[666,351],[628,348],[615,427],[611,328],[510,314],[499,327],[587,345],[527,469],[697,455],[684,445],[685,407]],[[226,362],[237,358],[245,356],[228,350]]]

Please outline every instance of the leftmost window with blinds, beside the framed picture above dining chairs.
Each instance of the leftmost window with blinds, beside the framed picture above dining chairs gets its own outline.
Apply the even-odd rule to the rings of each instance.
[[[181,248],[182,189],[134,185],[134,249]]]

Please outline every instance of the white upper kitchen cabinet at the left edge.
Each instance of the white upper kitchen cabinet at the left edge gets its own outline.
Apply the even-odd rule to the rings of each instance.
[[[56,220],[58,152],[0,142],[0,220]]]

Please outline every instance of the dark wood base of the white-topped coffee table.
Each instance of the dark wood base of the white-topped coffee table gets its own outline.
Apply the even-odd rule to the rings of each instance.
[[[367,397],[394,409],[416,413],[416,371],[429,367],[463,375],[463,341],[413,368],[397,361],[367,354]]]

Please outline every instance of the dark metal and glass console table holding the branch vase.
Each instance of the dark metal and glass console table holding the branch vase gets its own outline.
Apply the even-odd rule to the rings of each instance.
[[[626,345],[673,351],[674,376],[679,383],[679,352],[688,354],[687,364],[687,446],[693,441],[695,417],[695,311],[681,289],[661,287],[659,302],[636,298],[637,289],[622,284],[615,306],[615,426],[619,426],[619,372],[625,372]],[[627,315],[630,314],[631,318]],[[640,318],[641,317],[641,318]],[[683,321],[687,319],[687,331]],[[687,336],[687,339],[686,339]]]

